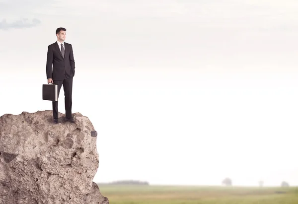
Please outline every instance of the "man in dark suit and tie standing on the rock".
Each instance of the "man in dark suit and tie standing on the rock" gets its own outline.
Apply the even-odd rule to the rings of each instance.
[[[58,85],[58,97],[63,85],[65,95],[66,120],[74,123],[72,116],[72,92],[74,77],[74,53],[71,44],[64,42],[66,37],[65,28],[57,28],[57,41],[48,46],[47,54],[47,79],[48,83]],[[53,72],[52,72],[53,65]],[[58,124],[58,101],[53,101],[54,123]]]

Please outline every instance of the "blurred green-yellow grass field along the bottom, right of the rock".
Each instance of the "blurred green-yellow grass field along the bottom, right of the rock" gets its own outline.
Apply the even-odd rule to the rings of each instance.
[[[99,185],[110,204],[298,204],[298,188]]]

